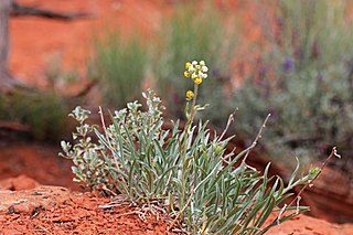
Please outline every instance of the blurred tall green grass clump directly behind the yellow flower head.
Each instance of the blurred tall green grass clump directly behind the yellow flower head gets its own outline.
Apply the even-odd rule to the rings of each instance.
[[[186,79],[180,79],[182,60],[203,58],[212,67],[212,81],[204,85],[199,96],[205,103],[212,99],[210,97],[220,97],[212,99],[211,110],[216,110],[218,100],[224,98],[220,89],[224,81],[229,79],[237,40],[236,22],[232,17],[231,12],[218,9],[213,1],[207,0],[202,4],[196,1],[176,3],[172,14],[164,15],[154,42],[152,71],[156,88],[172,116],[184,118],[180,111],[184,102],[180,90],[191,88]],[[227,114],[223,113],[224,116]]]

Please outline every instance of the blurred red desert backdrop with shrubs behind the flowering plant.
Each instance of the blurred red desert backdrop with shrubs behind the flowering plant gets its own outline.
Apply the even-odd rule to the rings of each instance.
[[[0,180],[25,174],[78,189],[69,162],[57,157],[73,127],[67,114],[76,105],[94,114],[124,108],[151,87],[165,117],[183,119],[192,88],[184,63],[205,60],[200,103],[210,107],[199,118],[222,130],[237,109],[228,133],[244,148],[271,114],[249,160],[259,169],[271,161],[271,173],[285,179],[295,157],[303,172],[336,146],[342,159],[302,201],[313,216],[353,222],[352,1],[17,0],[8,24],[6,1]]]

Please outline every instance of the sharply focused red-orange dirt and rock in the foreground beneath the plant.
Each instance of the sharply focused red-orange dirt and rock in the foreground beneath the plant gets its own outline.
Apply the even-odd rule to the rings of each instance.
[[[12,179],[14,184],[24,178]],[[30,180],[33,182],[33,180]],[[60,186],[0,190],[0,234],[173,234],[163,214],[121,205],[101,209],[109,199]],[[275,218],[275,215],[271,220]],[[268,234],[351,235],[353,225],[330,224],[300,215]]]

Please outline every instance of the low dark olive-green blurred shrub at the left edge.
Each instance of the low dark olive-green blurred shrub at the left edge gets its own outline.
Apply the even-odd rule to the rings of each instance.
[[[21,93],[0,97],[0,118],[28,125],[38,140],[57,140],[69,131],[66,114],[69,106],[61,96],[52,92]]]

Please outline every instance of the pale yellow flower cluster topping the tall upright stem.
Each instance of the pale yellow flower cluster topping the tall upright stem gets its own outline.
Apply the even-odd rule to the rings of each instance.
[[[195,84],[201,84],[203,79],[207,78],[208,67],[204,61],[186,62],[184,76],[190,77]]]

